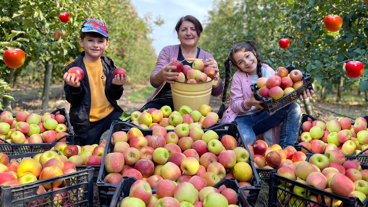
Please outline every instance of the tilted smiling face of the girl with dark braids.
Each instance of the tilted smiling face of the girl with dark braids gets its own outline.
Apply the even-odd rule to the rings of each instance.
[[[236,65],[240,70],[249,73],[251,76],[257,74],[257,59],[255,53],[251,51],[239,51],[233,55]]]

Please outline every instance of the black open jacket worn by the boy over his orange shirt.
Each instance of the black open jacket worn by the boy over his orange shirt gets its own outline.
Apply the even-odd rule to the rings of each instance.
[[[65,72],[71,67],[80,67],[83,69],[84,78],[80,80],[81,85],[79,87],[72,87],[64,81],[66,100],[70,103],[70,123],[79,139],[86,139],[88,136],[89,112],[91,110],[91,89],[89,87],[86,66],[83,62],[84,55],[85,52],[82,52],[77,59],[65,67]],[[106,55],[101,56],[101,62],[106,75],[105,95],[107,100],[116,110],[123,113],[123,109],[117,105],[116,100],[120,99],[121,95],[123,95],[124,88],[122,85],[112,84],[114,70],[116,69],[114,62]]]

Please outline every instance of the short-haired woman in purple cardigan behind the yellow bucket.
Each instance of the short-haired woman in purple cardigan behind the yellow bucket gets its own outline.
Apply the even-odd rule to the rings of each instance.
[[[203,31],[201,22],[197,18],[186,15],[181,17],[175,27],[175,30],[180,41],[179,45],[170,45],[164,47],[158,58],[155,69],[151,73],[150,82],[156,89],[155,94],[148,99],[148,103],[144,105],[141,111],[149,108],[160,109],[162,106],[170,106],[174,110],[173,97],[171,95],[170,84],[175,83],[178,73],[169,72],[169,70],[176,69],[176,66],[170,66],[174,60],[182,61],[184,65],[192,67],[192,62],[187,62],[188,58],[199,58],[205,60],[205,67],[213,67],[219,75],[219,69],[216,60],[213,56],[197,47],[199,36]],[[217,80],[217,77],[216,79]],[[223,84],[221,79],[217,85],[212,86],[213,96],[219,96],[222,92]]]

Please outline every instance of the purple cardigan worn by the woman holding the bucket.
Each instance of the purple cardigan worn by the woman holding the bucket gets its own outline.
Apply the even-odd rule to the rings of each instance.
[[[154,82],[153,82],[153,74],[157,73],[158,71],[160,71],[164,66],[166,66],[168,63],[170,62],[173,62],[174,60],[177,60],[178,59],[178,53],[179,53],[179,46],[180,45],[169,45],[169,46],[166,46],[164,47],[158,58],[157,58],[157,63],[156,63],[156,67],[155,69],[152,71],[151,73],[151,77],[149,78],[149,81],[151,82],[151,85],[156,89],[155,93],[153,94],[153,96],[151,98],[148,99],[148,101],[152,101],[153,98],[156,97],[156,95],[160,92],[160,90],[162,89],[162,87],[165,85],[166,81],[164,81],[161,85],[156,85]],[[208,58],[212,58],[212,55],[204,50],[199,50],[199,55],[198,55],[198,58],[200,59],[208,59]],[[221,81],[221,79],[219,80]],[[212,88],[212,93],[211,95],[213,96],[219,96],[222,92],[222,89],[223,89],[223,84],[222,84],[222,81],[220,83],[220,85],[216,88]]]

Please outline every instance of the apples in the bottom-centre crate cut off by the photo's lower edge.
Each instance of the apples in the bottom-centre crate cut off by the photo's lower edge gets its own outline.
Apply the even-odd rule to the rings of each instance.
[[[163,179],[158,182],[156,194],[152,194],[150,184],[137,180],[130,187],[129,197],[120,202],[120,207],[239,207],[237,193],[231,188],[203,187],[193,176],[188,182],[176,182]]]

